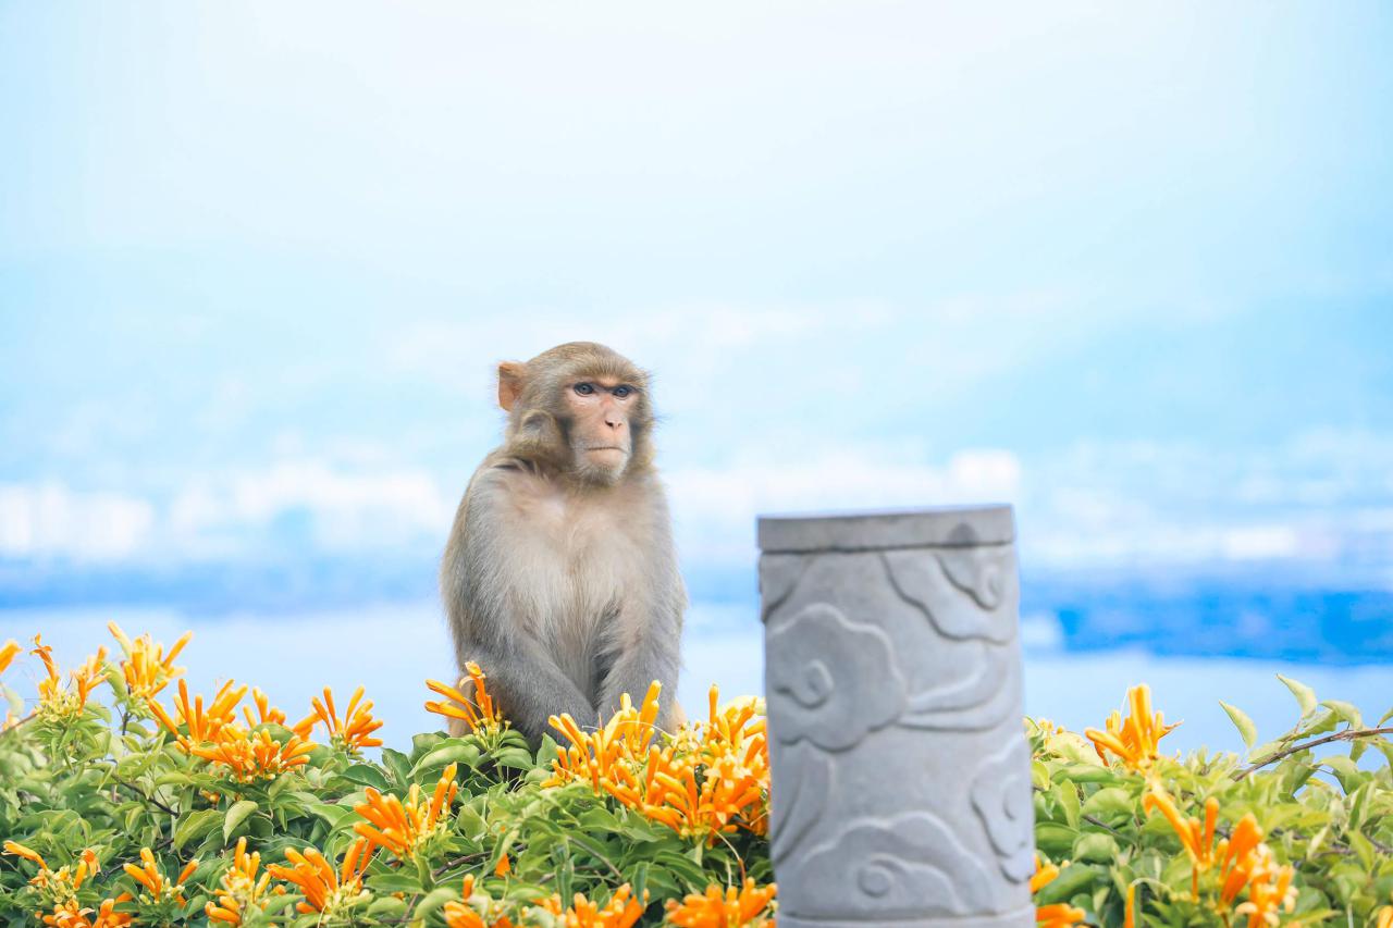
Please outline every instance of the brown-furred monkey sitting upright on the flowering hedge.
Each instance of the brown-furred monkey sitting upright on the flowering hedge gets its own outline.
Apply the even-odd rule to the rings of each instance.
[[[475,662],[536,747],[552,715],[595,726],[676,695],[687,589],[652,443],[649,375],[593,341],[497,368],[503,444],[479,464],[440,562],[462,672]]]

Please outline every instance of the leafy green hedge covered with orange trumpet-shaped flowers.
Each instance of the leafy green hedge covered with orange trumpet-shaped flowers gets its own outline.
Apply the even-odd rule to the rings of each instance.
[[[756,699],[712,691],[651,743],[655,687],[531,751],[474,667],[428,683],[467,734],[369,757],[361,690],[290,723],[259,690],[191,695],[188,635],[111,631],[65,674],[35,638],[28,701],[0,684],[0,924],[773,925]],[[1224,706],[1241,754],[1163,755],[1145,687],[1082,736],[1027,719],[1041,924],[1393,924],[1393,711],[1365,726],[1283,683],[1300,719],[1275,741]]]

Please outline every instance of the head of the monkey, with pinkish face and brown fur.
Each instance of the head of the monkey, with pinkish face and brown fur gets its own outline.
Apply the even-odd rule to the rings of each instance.
[[[648,375],[593,341],[499,365],[507,451],[585,484],[614,485],[652,464]]]

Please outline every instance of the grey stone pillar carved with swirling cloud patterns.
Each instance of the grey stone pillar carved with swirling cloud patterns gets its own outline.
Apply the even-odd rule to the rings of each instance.
[[[779,928],[1035,924],[1011,509],[759,520]]]

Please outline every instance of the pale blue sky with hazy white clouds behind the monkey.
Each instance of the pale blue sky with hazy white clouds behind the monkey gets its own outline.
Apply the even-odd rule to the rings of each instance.
[[[1390,46],[1378,3],[0,6],[0,602],[429,573],[493,365],[568,339],[656,372],[690,571],[758,511],[1006,500],[1035,569],[1393,587]]]

